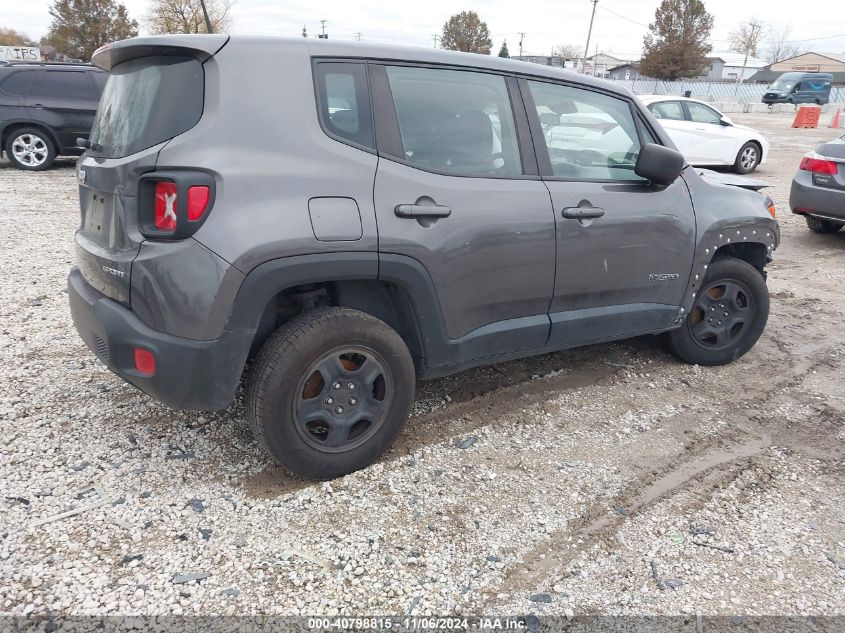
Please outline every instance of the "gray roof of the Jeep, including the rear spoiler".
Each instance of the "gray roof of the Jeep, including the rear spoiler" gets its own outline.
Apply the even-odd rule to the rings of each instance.
[[[313,57],[346,57],[357,59],[373,59],[387,61],[414,61],[444,66],[465,66],[469,68],[483,68],[504,73],[514,73],[533,77],[546,77],[577,81],[578,83],[601,88],[608,92],[629,96],[625,88],[613,82],[575,73],[565,68],[545,66],[532,62],[523,62],[497,55],[478,55],[476,53],[461,53],[436,48],[418,46],[387,45],[371,42],[342,41],[303,37],[270,37],[254,35],[154,35],[135,37],[129,40],[115,42],[98,49],[94,53],[93,62],[96,66],[108,70],[114,64],[154,54],[156,50],[166,47],[172,50],[191,49],[204,51],[210,57],[226,46],[248,46],[256,54],[275,55],[281,57],[286,51],[305,50]]]

